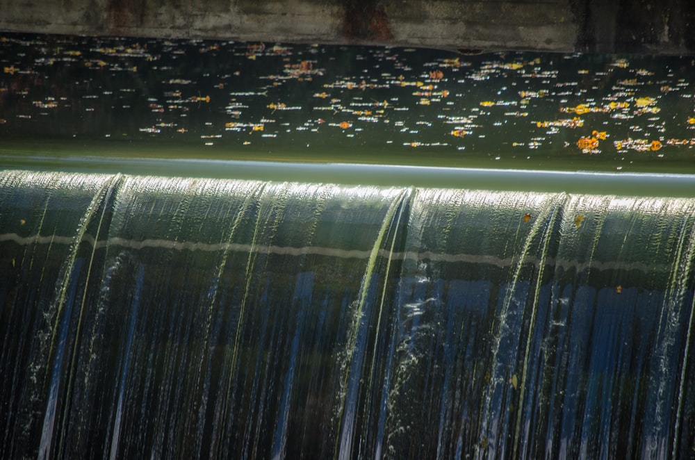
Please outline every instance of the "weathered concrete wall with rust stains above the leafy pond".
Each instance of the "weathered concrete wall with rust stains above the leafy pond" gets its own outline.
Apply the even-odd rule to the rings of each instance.
[[[695,54],[692,0],[0,0],[0,31]]]

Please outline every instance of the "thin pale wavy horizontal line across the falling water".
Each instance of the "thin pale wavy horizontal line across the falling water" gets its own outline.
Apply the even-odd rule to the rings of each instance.
[[[62,244],[72,245],[75,238],[71,236],[20,236],[17,233],[4,233],[0,235],[0,243],[12,242],[17,245],[32,245],[32,244]],[[145,240],[131,240],[127,238],[111,237],[108,240],[95,241],[91,235],[84,235],[80,243],[88,243],[96,249],[103,249],[107,246],[119,246],[129,249],[172,249],[176,251],[190,252],[241,252],[244,254],[272,254],[279,256],[325,256],[334,258],[357,258],[368,259],[370,249],[340,249],[336,247],[324,246],[276,246],[276,245],[250,245],[244,243],[202,243],[198,241],[177,241],[147,238]],[[393,261],[432,261],[443,263],[469,263],[479,265],[489,265],[496,268],[509,268],[517,265],[520,261],[518,257],[502,258],[499,256],[491,256],[486,254],[445,254],[439,252],[423,251],[423,252],[389,252],[386,249],[379,249],[379,257],[390,258]],[[535,265],[539,267],[541,263],[554,268],[562,268],[564,270],[623,270],[637,272],[663,272],[671,270],[672,267],[665,264],[641,263],[641,262],[621,262],[621,261],[596,261],[595,259],[588,262],[567,261],[557,258],[548,257],[544,261],[540,258],[525,256],[523,258],[524,265]]]

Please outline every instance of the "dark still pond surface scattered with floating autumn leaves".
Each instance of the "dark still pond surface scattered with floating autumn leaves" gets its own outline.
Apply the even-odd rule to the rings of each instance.
[[[4,34],[0,62],[5,155],[695,171],[692,56]]]

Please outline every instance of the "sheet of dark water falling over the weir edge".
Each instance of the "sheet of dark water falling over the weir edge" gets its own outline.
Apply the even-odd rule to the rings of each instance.
[[[688,458],[695,203],[3,172],[0,457]]]

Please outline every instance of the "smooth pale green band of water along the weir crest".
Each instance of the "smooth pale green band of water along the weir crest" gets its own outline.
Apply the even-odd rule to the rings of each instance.
[[[0,165],[6,168],[41,171],[274,182],[566,192],[633,197],[695,197],[695,174],[36,155],[0,155]]]

